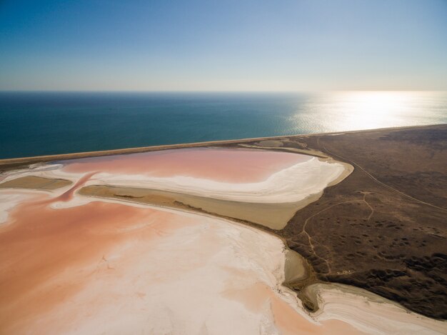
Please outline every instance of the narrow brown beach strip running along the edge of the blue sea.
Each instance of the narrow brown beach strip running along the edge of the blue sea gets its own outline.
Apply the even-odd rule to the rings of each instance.
[[[228,144],[244,144],[246,142],[252,141],[265,141],[265,140],[275,140],[275,139],[297,139],[297,138],[307,138],[314,136],[337,136],[342,134],[358,134],[358,133],[366,133],[366,132],[375,132],[375,131],[386,131],[386,130],[403,130],[403,129],[423,129],[433,126],[444,126],[446,124],[431,124],[431,125],[423,125],[423,126],[395,126],[395,127],[386,127],[386,128],[376,128],[376,129],[362,129],[362,130],[352,130],[352,131],[334,131],[328,133],[315,133],[315,134],[296,134],[296,135],[281,135],[281,136],[266,136],[266,137],[253,137],[253,138],[245,138],[245,139],[228,139],[228,140],[219,140],[219,141],[203,141],[203,142],[191,142],[185,144],[164,144],[159,146],[137,146],[133,148],[125,148],[125,149],[111,149],[111,150],[101,150],[101,151],[81,151],[70,154],[54,154],[54,155],[42,155],[42,156],[26,156],[26,157],[18,157],[18,158],[9,158],[9,159],[0,159],[0,171],[14,169],[19,166],[31,165],[44,163],[47,161],[62,161],[68,159],[80,159],[87,157],[96,157],[96,156],[112,156],[119,154],[136,154],[139,152],[147,152],[147,151],[161,151],[161,150],[169,150],[169,149],[188,149],[194,147],[208,147],[208,146],[226,146]],[[262,148],[258,148],[262,149]],[[268,148],[265,148],[268,149]],[[276,148],[280,149],[280,148]],[[271,149],[270,149],[271,150]]]

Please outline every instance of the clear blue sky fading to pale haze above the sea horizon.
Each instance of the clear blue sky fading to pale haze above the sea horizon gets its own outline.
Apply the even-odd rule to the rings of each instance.
[[[447,0],[0,0],[0,89],[447,90]]]

